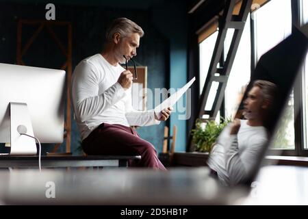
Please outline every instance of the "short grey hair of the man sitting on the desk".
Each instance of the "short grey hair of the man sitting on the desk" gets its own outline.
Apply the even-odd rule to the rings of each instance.
[[[139,34],[140,38],[144,35],[142,28],[127,18],[116,18],[110,23],[106,31],[107,42],[111,42],[116,33],[120,33],[122,38],[135,33]]]

